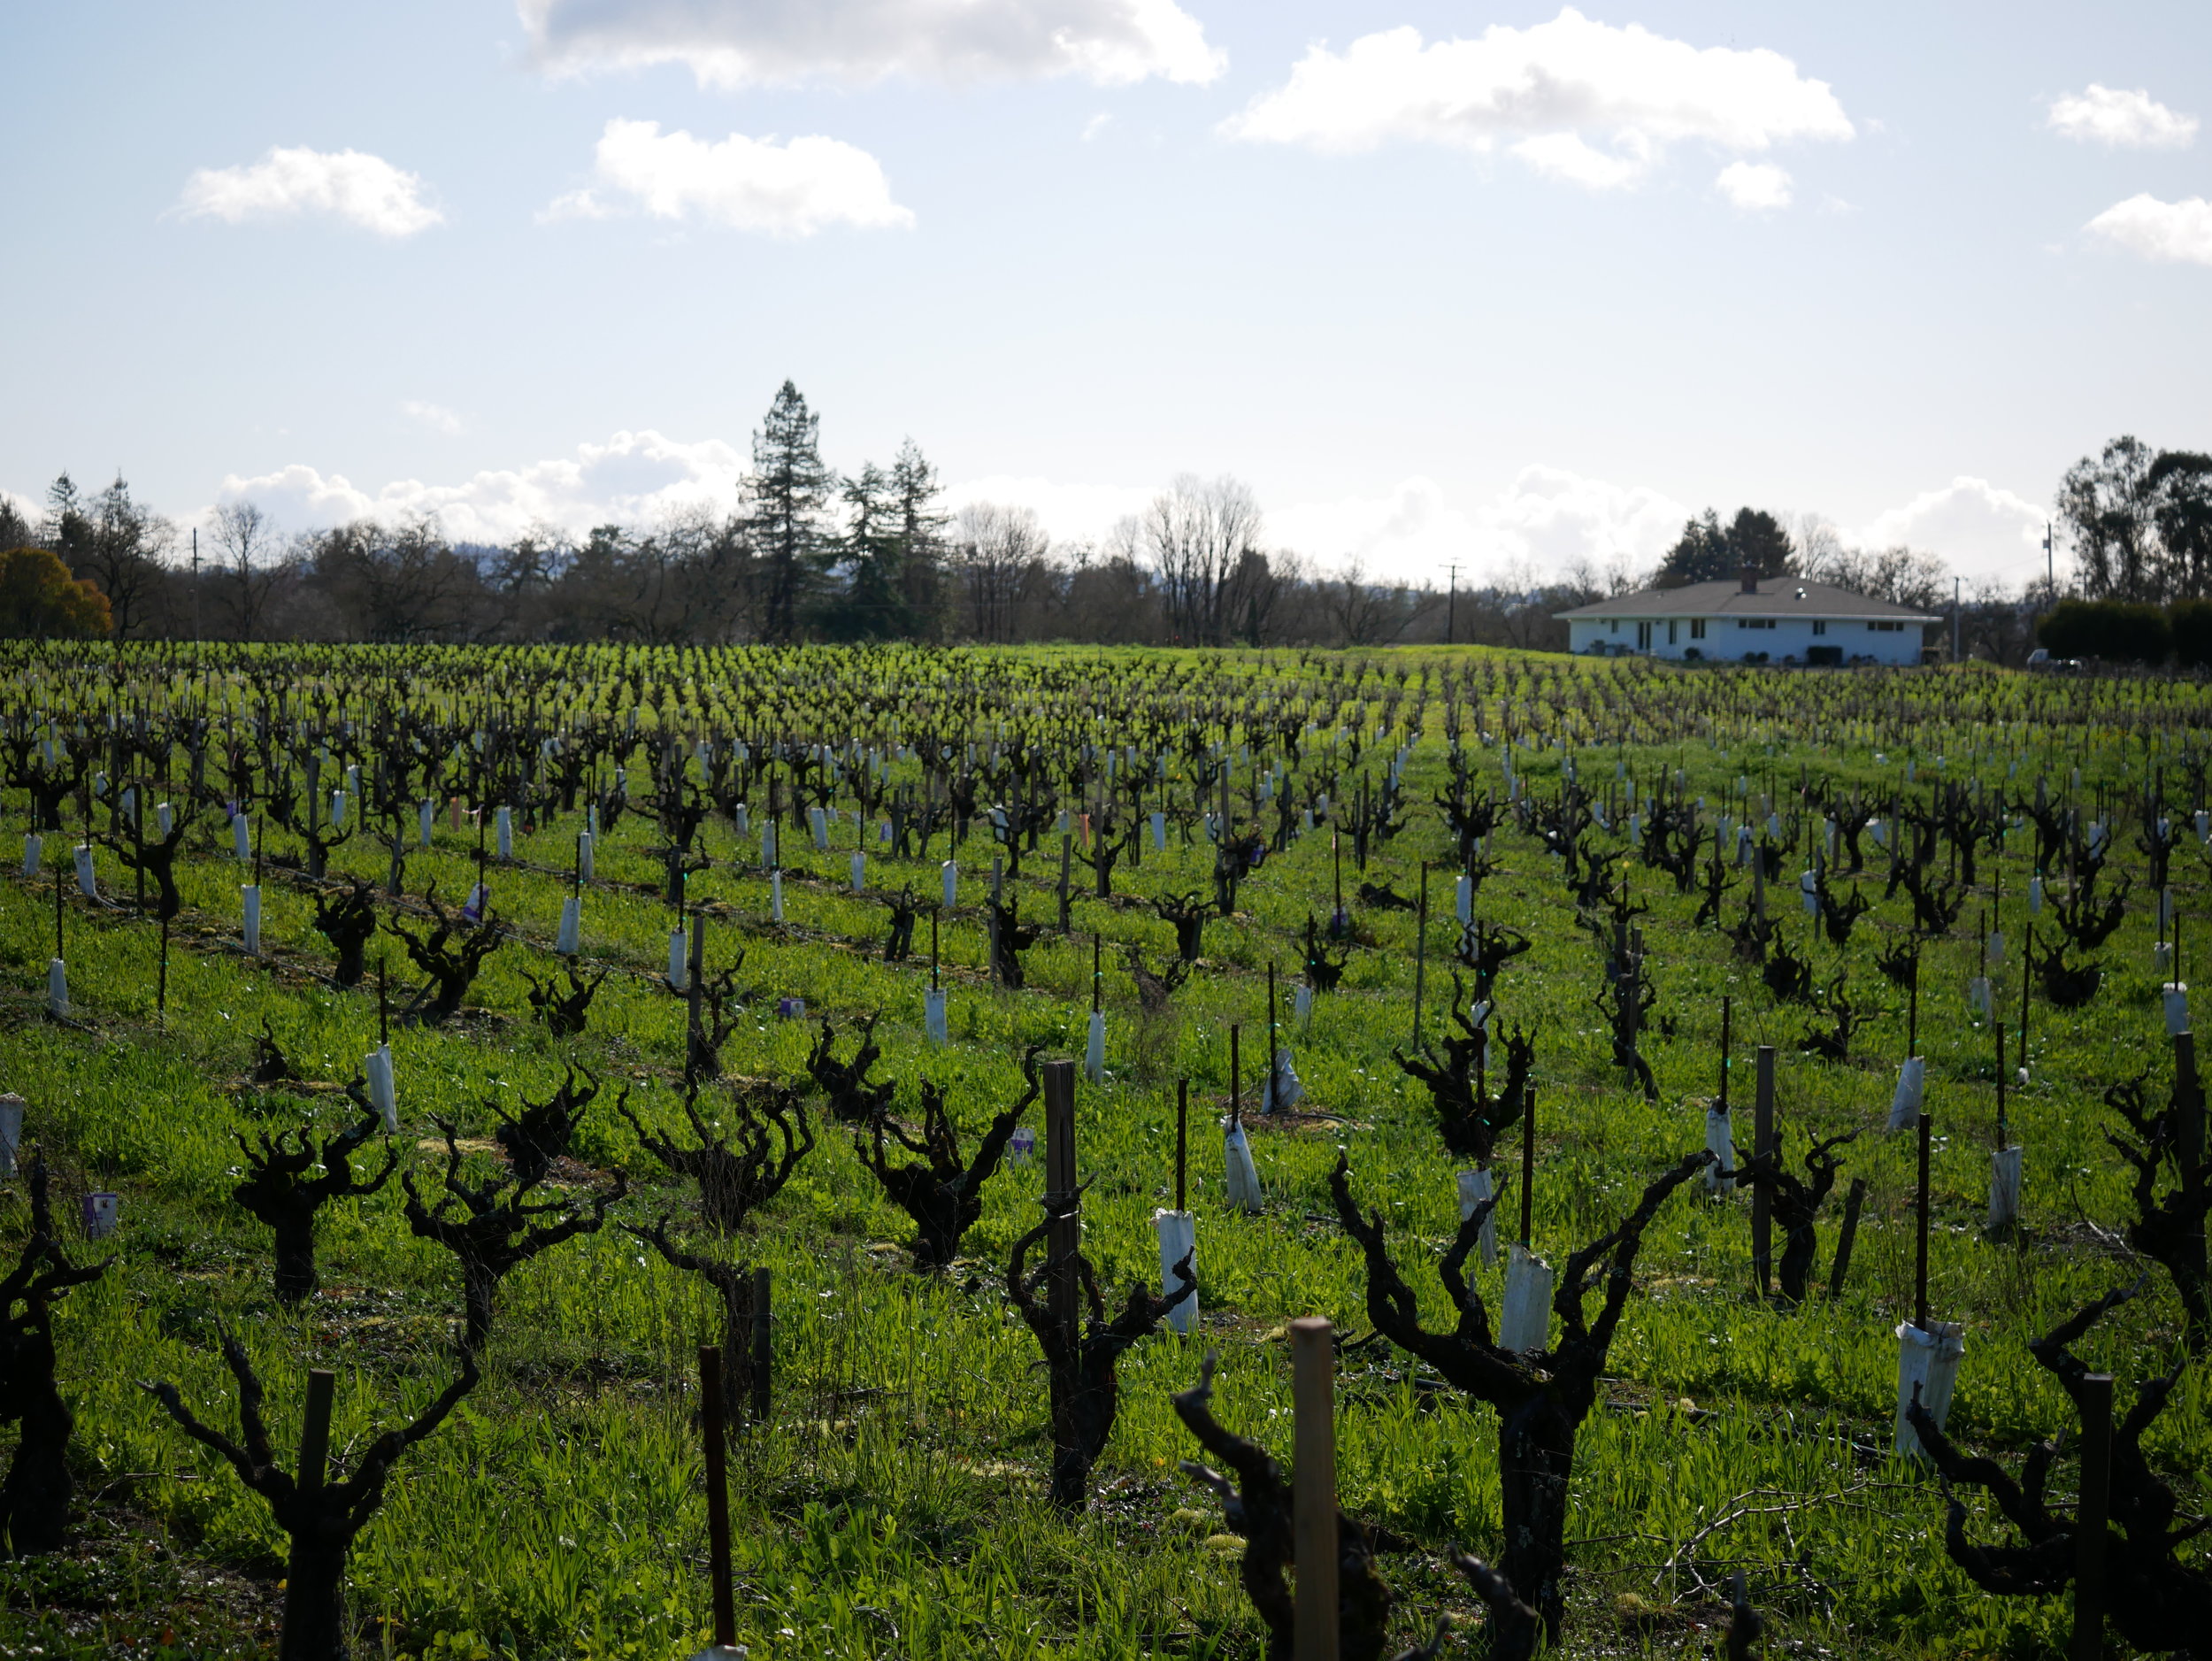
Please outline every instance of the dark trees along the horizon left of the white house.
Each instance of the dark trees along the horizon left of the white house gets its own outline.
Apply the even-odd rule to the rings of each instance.
[[[434,518],[281,535],[228,502],[197,537],[117,478],[66,473],[38,522],[0,498],[0,549],[44,549],[104,597],[119,639],[332,641],[1079,641],[1186,646],[1564,646],[1551,615],[1595,599],[1588,573],[1436,591],[1321,573],[1263,546],[1234,478],[1181,476],[1099,542],[1055,542],[1033,509],[945,506],[907,440],[887,467],[838,473],[821,418],[785,383],[752,433],[728,511],[688,509],[584,537],[540,529],[456,544]],[[58,628],[7,610],[0,633]]]

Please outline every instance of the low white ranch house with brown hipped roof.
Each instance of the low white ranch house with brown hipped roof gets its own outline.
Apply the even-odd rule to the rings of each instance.
[[[1637,652],[1679,664],[1918,664],[1920,630],[1942,617],[1798,577],[1646,588],[1575,610],[1571,652]]]

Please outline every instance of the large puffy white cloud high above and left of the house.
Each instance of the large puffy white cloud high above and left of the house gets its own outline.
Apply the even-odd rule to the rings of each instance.
[[[1405,27],[1343,51],[1316,44],[1221,130],[1325,153],[1506,148],[1542,173],[1610,188],[1641,179],[1677,142],[1754,155],[1785,139],[1847,139],[1851,122],[1827,82],[1781,53],[1699,49],[1566,7],[1473,40],[1422,42]]]

